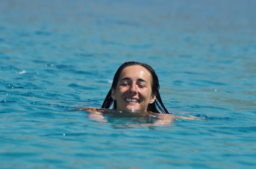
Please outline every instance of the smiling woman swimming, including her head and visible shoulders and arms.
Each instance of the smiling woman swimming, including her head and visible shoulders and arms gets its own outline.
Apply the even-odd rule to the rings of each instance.
[[[80,110],[90,112],[89,118],[101,122],[108,122],[104,118],[105,113],[125,111],[140,115],[152,114],[157,116],[154,123],[171,124],[178,116],[169,115],[161,100],[159,88],[158,77],[153,68],[144,63],[125,62],[116,71],[102,108],[91,107]],[[112,103],[113,108],[109,109]],[[166,115],[157,115],[159,113]]]

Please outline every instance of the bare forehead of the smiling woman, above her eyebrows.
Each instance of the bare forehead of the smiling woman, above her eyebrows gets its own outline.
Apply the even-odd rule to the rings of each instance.
[[[140,65],[133,65],[133,66],[128,66],[127,68],[124,68],[122,70],[122,73],[120,74],[119,79],[124,78],[124,77],[129,77],[130,79],[144,79],[146,81],[151,80],[151,74],[150,72],[144,68],[143,66]]]

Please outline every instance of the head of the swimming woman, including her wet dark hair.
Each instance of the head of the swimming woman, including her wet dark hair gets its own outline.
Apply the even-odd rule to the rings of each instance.
[[[125,62],[118,68],[102,108],[109,108],[113,102],[113,108],[117,110],[148,110],[159,113],[157,105],[162,113],[168,113],[160,98],[155,71],[140,62]]]

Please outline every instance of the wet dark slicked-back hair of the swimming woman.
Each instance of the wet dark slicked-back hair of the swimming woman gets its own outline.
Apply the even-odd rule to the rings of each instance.
[[[140,63],[140,62],[125,62],[124,64],[122,64],[118,70],[116,71],[116,74],[113,78],[113,83],[112,83],[112,86],[111,86],[111,89],[116,89],[116,86],[117,86],[117,83],[118,83],[118,79],[119,79],[119,76],[122,72],[122,70],[124,68],[127,68],[128,66],[133,66],[133,65],[140,65],[144,68],[146,68],[150,74],[151,74],[151,78],[152,78],[152,84],[151,84],[151,89],[152,89],[152,94],[156,96],[156,100],[151,103],[151,104],[148,104],[148,108],[147,110],[148,111],[151,111],[151,112],[154,112],[154,113],[160,113],[158,110],[157,110],[157,107],[159,108],[159,110],[162,112],[162,113],[167,113],[169,114],[168,110],[166,109],[166,107],[164,107],[163,105],[163,102],[162,102],[162,99],[160,97],[160,93],[159,93],[159,81],[158,81],[158,77],[157,77],[157,74],[155,73],[154,69],[151,68],[151,66],[145,64],[145,63]],[[102,104],[102,108],[109,108],[111,106],[111,104],[114,102],[114,105],[113,105],[113,109],[116,109],[116,100],[113,100],[112,97],[111,97],[111,89],[109,90],[108,92],[108,95],[106,96],[103,104]],[[159,105],[160,103],[160,105]],[[156,107],[157,106],[157,107]]]

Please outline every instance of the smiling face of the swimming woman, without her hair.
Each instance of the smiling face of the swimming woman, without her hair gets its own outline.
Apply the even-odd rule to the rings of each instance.
[[[147,111],[148,104],[155,101],[152,95],[151,74],[140,65],[123,69],[116,86],[112,88],[112,99],[116,100],[116,110]]]

